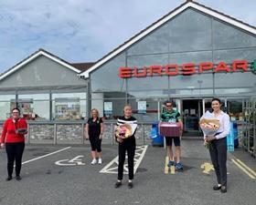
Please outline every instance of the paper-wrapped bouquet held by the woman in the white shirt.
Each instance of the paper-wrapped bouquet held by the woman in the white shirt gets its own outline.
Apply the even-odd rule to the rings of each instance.
[[[204,118],[199,121],[200,128],[205,135],[214,135],[219,129],[219,120],[213,118],[210,112],[206,112]]]

